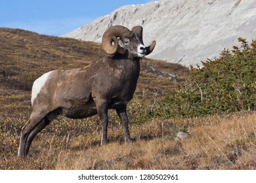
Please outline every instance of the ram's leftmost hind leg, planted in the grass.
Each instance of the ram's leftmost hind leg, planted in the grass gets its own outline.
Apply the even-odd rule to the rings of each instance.
[[[45,116],[46,115],[43,115],[39,112],[32,112],[32,114],[30,115],[30,119],[28,120],[27,124],[22,127],[22,131],[20,133],[20,146],[18,148],[18,156],[27,156],[28,152],[26,152],[26,149],[29,148],[32,141],[30,138],[30,142],[28,143],[28,137],[32,133],[33,129],[35,129],[37,125],[41,123]]]

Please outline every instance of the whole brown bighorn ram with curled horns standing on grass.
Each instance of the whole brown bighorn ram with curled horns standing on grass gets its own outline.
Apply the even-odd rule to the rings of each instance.
[[[25,157],[37,133],[59,114],[87,118],[98,114],[102,121],[101,144],[107,143],[108,109],[114,108],[123,123],[125,142],[131,142],[126,112],[140,73],[140,58],[154,50],[142,40],[142,27],[121,25],[108,28],[102,48],[111,56],[87,67],[54,70],[37,78],[32,87],[32,114],[22,127],[18,156]]]

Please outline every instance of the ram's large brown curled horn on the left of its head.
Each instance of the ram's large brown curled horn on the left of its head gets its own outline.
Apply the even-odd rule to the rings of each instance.
[[[103,36],[102,36],[102,48],[103,50],[109,54],[116,54],[118,49],[117,37],[129,37],[131,36],[131,31],[126,27],[121,25],[115,25],[113,27],[108,28]],[[112,44],[114,42],[114,44]]]

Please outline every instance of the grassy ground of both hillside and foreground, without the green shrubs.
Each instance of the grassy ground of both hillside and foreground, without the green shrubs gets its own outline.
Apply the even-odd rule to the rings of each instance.
[[[110,144],[103,147],[97,116],[60,116],[35,137],[28,158],[17,158],[20,129],[30,116],[33,80],[104,56],[94,42],[0,28],[0,169],[256,169],[253,112],[152,120],[156,101],[188,75],[181,65],[152,59],[142,59],[138,87],[128,106],[135,142],[124,144],[113,111]],[[175,140],[178,131],[190,136]]]

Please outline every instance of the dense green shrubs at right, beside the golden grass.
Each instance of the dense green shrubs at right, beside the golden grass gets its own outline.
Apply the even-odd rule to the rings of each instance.
[[[256,40],[239,38],[240,48],[223,50],[218,59],[191,67],[188,79],[167,93],[156,115],[205,116],[220,112],[256,109]]]

